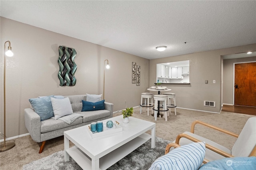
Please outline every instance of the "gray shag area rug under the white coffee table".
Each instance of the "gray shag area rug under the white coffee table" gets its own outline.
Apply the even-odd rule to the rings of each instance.
[[[164,155],[168,143],[170,141],[156,137],[156,147],[151,149],[151,140],[148,140],[108,170],[147,170],[156,158]],[[65,162],[62,150],[24,165],[23,170],[82,170],[82,168],[71,157],[69,162]]]

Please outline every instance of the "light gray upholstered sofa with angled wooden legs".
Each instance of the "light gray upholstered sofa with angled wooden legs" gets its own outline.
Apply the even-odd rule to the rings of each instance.
[[[78,117],[70,125],[62,120],[51,118],[40,121],[40,116],[32,108],[24,109],[25,125],[30,136],[35,142],[42,142],[39,153],[42,153],[47,140],[62,136],[64,131],[113,117],[114,105],[111,103],[104,103],[105,110],[81,111],[82,100],[86,101],[86,95],[64,97],[69,98],[74,113],[83,115],[83,117]]]

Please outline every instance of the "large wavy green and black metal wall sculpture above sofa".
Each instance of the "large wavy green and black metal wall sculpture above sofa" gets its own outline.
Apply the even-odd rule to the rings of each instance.
[[[60,71],[58,72],[58,77],[60,79],[60,86],[76,85],[76,78],[74,76],[77,68],[76,63],[74,62],[75,57],[75,49],[59,46],[58,64],[60,66]]]

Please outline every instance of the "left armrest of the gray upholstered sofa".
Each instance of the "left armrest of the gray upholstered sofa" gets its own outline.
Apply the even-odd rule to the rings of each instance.
[[[41,141],[41,121],[40,116],[33,109],[24,109],[25,126],[30,136],[35,142]]]

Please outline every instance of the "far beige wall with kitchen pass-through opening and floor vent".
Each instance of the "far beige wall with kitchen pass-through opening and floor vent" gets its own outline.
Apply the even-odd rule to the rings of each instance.
[[[168,86],[176,94],[177,107],[219,113],[222,105],[221,55],[246,51],[256,51],[256,44],[150,60],[149,84],[153,86],[156,82],[156,64],[190,60],[190,85]],[[204,84],[204,80],[208,80],[208,84]],[[204,100],[216,102],[216,107],[204,106]]]

